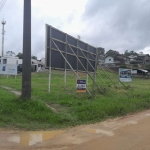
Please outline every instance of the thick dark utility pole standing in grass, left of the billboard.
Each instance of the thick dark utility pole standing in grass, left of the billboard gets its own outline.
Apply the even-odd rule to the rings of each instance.
[[[31,98],[31,0],[24,0],[22,98]]]

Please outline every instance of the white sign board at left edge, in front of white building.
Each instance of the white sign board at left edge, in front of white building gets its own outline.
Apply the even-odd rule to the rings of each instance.
[[[0,64],[0,74],[17,75],[17,65]]]

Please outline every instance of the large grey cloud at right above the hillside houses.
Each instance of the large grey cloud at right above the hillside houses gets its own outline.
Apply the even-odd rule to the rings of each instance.
[[[88,0],[85,39],[96,46],[139,51],[150,46],[149,0]]]

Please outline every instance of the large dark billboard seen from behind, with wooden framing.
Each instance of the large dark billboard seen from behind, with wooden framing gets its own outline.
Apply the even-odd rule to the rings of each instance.
[[[46,67],[69,70],[70,67],[58,48],[74,70],[94,72],[97,55],[95,47],[46,25]]]

